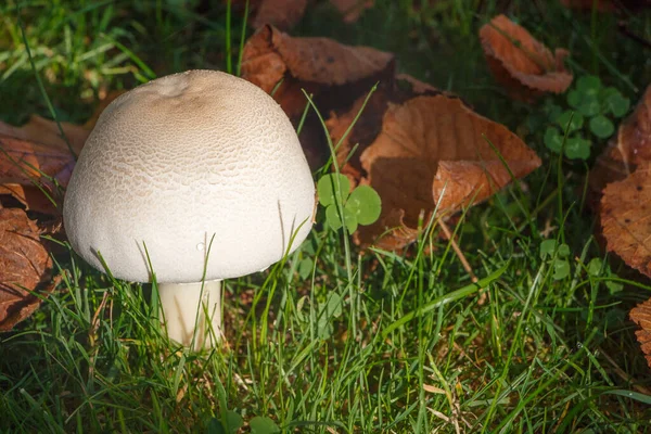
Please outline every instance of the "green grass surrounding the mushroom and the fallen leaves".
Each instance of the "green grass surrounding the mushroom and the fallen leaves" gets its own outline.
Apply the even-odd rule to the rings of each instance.
[[[23,1],[18,21],[9,0],[0,118],[52,117],[36,75],[59,120],[84,122],[106,90],[226,68],[227,36],[237,68],[238,15],[228,27],[220,1],[200,12],[194,3]],[[588,166],[546,151],[545,127],[525,128],[540,105],[514,103],[487,72],[476,30],[505,2],[375,3],[346,26],[318,2],[294,34],[396,52],[403,72],[525,135],[544,159],[526,186],[451,228],[481,284],[432,221],[396,253],[348,248],[341,232],[317,225],[282,266],[225,282],[226,340],[193,354],[166,340],[151,285],[112,280],[64,244],[54,255],[60,290],[0,335],[1,432],[220,432],[215,421],[227,411],[269,417],[285,432],[651,432],[651,371],[626,320],[651,286],[604,257],[592,235],[582,200]],[[575,74],[600,75],[634,101],[650,81],[648,52],[616,34],[616,16],[510,3],[535,36],[572,50]],[[649,12],[625,18],[649,39]],[[561,258],[540,255],[548,226],[571,250],[560,280]],[[589,272],[593,258],[610,266]],[[611,294],[613,281],[623,290]]]

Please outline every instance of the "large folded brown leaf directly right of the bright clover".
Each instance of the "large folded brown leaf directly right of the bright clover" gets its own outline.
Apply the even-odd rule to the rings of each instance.
[[[380,193],[382,215],[375,225],[359,229],[357,241],[396,248],[416,239],[419,220],[426,219],[437,204],[439,215],[446,216],[507,186],[509,169],[486,139],[515,178],[540,165],[518,136],[457,98],[438,94],[390,103],[380,135],[360,156],[367,174],[361,183]],[[390,241],[378,239],[396,227],[403,231],[399,242],[392,234]]]

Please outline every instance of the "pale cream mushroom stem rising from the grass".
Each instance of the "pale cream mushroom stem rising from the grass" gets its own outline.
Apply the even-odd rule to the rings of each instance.
[[[158,283],[158,295],[170,340],[189,347],[192,345],[196,329],[193,349],[210,348],[216,341],[219,341],[221,335],[220,280]],[[212,331],[208,323],[212,324]]]

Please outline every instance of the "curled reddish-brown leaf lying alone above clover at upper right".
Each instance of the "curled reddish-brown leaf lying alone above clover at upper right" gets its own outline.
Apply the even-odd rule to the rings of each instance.
[[[498,15],[480,29],[488,66],[514,98],[528,100],[542,92],[564,92],[572,84],[565,69],[566,50],[551,51],[518,24]]]

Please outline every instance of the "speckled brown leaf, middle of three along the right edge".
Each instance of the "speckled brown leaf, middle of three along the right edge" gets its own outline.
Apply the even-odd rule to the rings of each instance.
[[[609,252],[651,277],[651,163],[623,181],[611,182],[601,199],[601,228]]]

